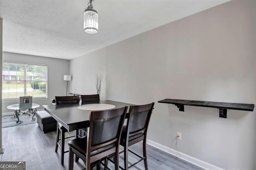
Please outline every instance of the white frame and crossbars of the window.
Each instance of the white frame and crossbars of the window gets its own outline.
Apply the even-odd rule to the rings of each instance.
[[[26,70],[24,70],[24,80],[18,80],[18,78],[16,78],[15,80],[10,80],[10,81],[24,81],[24,96],[26,96],[26,82],[30,82],[30,81],[38,81],[38,82],[46,82],[46,97],[34,97],[33,96],[33,100],[48,100],[48,65],[46,64],[34,64],[34,63],[19,63],[19,62],[12,62],[12,61],[2,61],[2,64],[4,63],[12,63],[12,64],[23,64],[24,68],[25,65],[38,65],[38,66],[46,66],[46,80],[26,80],[27,76],[26,76]],[[2,78],[3,78],[3,68],[2,68]],[[3,84],[3,83],[2,83]],[[17,98],[2,98],[3,102],[8,102],[8,101],[18,101],[19,97]]]

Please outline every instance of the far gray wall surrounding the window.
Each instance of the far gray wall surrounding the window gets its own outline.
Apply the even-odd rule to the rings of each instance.
[[[66,96],[66,81],[63,80],[63,76],[69,74],[69,60],[4,52],[3,61],[25,64],[44,64],[48,66],[48,98],[40,100],[33,99],[33,103],[40,105],[39,109],[43,109],[42,105],[44,104],[51,104],[51,99],[54,99],[55,96]],[[6,107],[11,104],[17,104],[18,102],[18,100],[3,100],[3,113],[11,112],[11,110]]]

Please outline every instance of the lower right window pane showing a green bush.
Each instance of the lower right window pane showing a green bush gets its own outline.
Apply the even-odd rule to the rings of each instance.
[[[46,81],[31,81],[27,84],[27,95],[33,97],[46,97]]]

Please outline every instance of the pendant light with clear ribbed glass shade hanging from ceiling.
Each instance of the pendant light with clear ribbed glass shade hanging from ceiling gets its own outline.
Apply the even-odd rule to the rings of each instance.
[[[88,2],[88,7],[84,10],[84,31],[89,34],[98,32],[98,13],[93,9],[92,1]]]

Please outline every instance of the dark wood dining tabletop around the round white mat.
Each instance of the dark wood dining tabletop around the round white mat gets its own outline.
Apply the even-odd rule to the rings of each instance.
[[[112,104],[118,109],[121,107],[130,106],[134,104],[116,102],[112,100],[101,100],[100,104]],[[79,104],[75,105],[43,105],[45,110],[54,118],[56,121],[61,123],[68,131],[74,131],[89,126],[90,111],[78,109]]]

